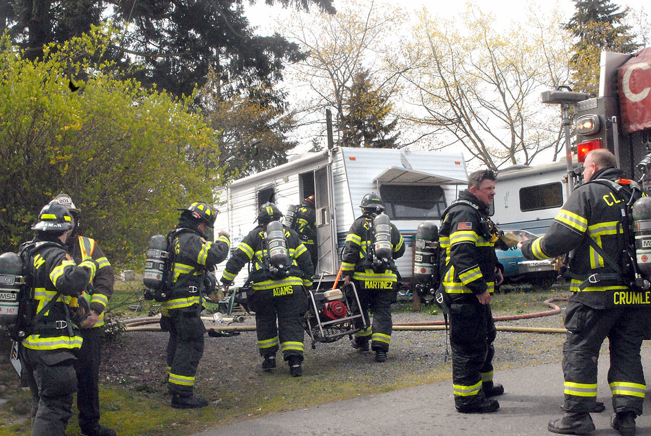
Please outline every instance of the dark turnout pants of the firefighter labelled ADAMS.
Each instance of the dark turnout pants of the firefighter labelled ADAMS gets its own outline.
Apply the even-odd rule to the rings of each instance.
[[[307,310],[307,295],[301,286],[292,292],[273,295],[273,289],[256,290],[249,295],[249,307],[255,312],[258,351],[262,357],[275,355],[279,347],[285,361],[303,361],[303,314]],[[276,319],[278,327],[276,327]]]

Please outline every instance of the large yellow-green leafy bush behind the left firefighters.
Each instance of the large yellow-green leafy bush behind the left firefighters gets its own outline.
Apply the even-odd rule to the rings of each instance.
[[[188,100],[117,80],[92,57],[109,41],[96,32],[49,44],[28,61],[0,44],[0,250],[29,238],[41,206],[59,191],[72,195],[89,236],[114,264],[145,251],[191,200],[212,200],[217,171],[204,174],[192,156],[217,154],[214,132]],[[79,89],[66,72],[89,70]],[[7,188],[8,187],[8,188]]]

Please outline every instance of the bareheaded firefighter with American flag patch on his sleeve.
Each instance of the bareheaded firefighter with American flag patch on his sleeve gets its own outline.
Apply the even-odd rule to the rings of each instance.
[[[460,413],[490,413],[499,409],[504,388],[493,383],[495,323],[491,294],[503,278],[491,232],[488,208],[495,196],[495,173],[478,170],[468,176],[468,188],[443,211],[439,268],[445,305],[450,312],[452,389]],[[496,240],[497,239],[497,240]]]

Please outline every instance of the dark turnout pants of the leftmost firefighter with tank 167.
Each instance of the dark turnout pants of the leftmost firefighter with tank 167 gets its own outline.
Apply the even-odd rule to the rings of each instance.
[[[22,346],[20,351],[22,375],[32,392],[32,436],[63,436],[77,390],[74,354]]]

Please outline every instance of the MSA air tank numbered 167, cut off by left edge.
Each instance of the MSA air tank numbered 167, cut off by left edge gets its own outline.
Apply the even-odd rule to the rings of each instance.
[[[14,252],[0,254],[0,325],[16,323],[23,264]]]

